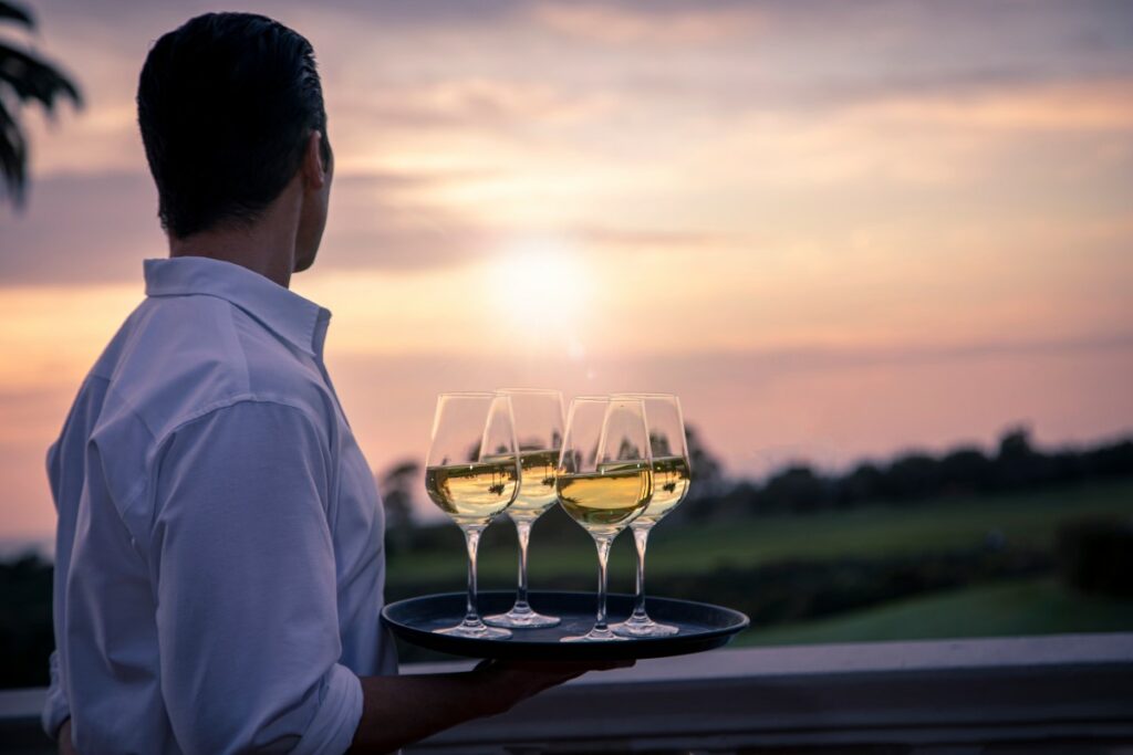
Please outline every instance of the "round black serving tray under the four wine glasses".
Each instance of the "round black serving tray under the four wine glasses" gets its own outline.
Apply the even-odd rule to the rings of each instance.
[[[540,661],[632,660],[699,653],[726,644],[749,624],[747,616],[730,608],[647,598],[646,609],[650,618],[659,624],[676,625],[680,634],[634,637],[624,642],[566,643],[560,640],[586,634],[594,626],[597,597],[593,592],[531,592],[528,595],[531,608],[540,614],[562,617],[559,626],[512,629],[510,640],[469,640],[435,634],[433,629],[460,623],[465,617],[465,599],[462,592],[410,598],[390,603],[382,610],[382,616],[395,635],[421,647],[470,658]],[[480,592],[480,616],[503,614],[514,601],[516,592],[511,590]],[[632,595],[607,595],[606,614],[611,624],[624,620],[632,610]]]

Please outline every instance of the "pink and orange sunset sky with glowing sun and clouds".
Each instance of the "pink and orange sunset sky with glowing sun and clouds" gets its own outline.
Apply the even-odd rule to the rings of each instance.
[[[199,2],[33,2],[80,83],[0,208],[0,538],[165,255],[135,122]],[[337,156],[315,268],[370,464],[438,391],[680,394],[730,473],[1133,431],[1127,2],[253,2],[306,35]],[[6,32],[11,32],[7,29]],[[423,496],[424,498],[424,496]]]

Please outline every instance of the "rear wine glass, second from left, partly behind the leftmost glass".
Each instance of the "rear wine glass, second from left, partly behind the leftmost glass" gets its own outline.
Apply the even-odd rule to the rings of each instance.
[[[563,395],[540,388],[506,388],[496,393],[511,398],[519,443],[519,495],[508,507],[508,516],[516,523],[519,535],[519,586],[511,610],[485,616],[484,623],[513,629],[557,626],[559,617],[538,614],[527,602],[527,543],[535,521],[556,500],[555,467],[563,443]]]

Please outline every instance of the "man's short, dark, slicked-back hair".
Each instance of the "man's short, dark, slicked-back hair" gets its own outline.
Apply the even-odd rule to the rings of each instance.
[[[312,131],[329,165],[315,52],[253,14],[205,14],[150,50],[138,125],[162,228],[185,238],[254,220],[303,163]]]

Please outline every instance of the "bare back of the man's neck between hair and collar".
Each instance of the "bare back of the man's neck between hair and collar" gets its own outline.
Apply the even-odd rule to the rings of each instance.
[[[295,271],[298,196],[290,185],[247,225],[213,228],[169,238],[170,257],[208,257],[247,267],[289,288]]]

